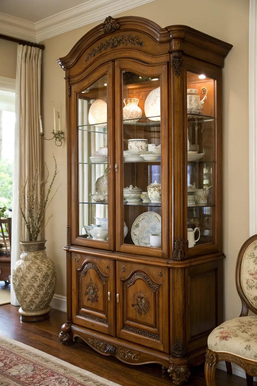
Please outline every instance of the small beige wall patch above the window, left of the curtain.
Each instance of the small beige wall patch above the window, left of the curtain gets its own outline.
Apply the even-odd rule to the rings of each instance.
[[[0,39],[0,76],[16,77],[17,43]]]

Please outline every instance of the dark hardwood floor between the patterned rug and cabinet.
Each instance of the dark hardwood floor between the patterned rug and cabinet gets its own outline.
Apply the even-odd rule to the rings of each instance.
[[[98,354],[80,339],[69,347],[60,344],[58,335],[65,321],[66,313],[52,310],[50,320],[38,323],[20,322],[18,307],[10,304],[0,306],[0,335],[47,352],[122,386],[172,385],[167,371],[162,371],[160,365],[128,366],[113,357]],[[204,386],[203,366],[192,368],[191,372],[187,385]],[[246,379],[228,376],[225,371],[216,370],[216,383],[217,386],[246,386]],[[257,383],[254,382],[254,385]]]

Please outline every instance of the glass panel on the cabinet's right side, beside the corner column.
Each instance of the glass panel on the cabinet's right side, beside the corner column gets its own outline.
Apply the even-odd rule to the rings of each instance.
[[[215,81],[187,72],[187,227],[189,248],[213,242]]]

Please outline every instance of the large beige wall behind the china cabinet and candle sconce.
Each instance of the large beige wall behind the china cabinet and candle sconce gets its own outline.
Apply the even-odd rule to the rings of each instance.
[[[235,261],[242,243],[249,237],[248,178],[248,33],[249,0],[156,0],[118,16],[146,17],[161,27],[185,24],[233,44],[223,70],[223,235],[225,259],[225,318],[240,314],[235,288]],[[114,15],[113,15],[114,16]],[[77,40],[99,22],[45,40],[43,54],[43,119],[47,136],[52,130],[52,100],[61,112],[65,127],[64,71],[55,62],[65,56]],[[66,295],[66,144],[56,147],[44,141],[45,161],[52,170],[52,153],[59,164],[62,183],[52,201],[54,213],[45,231],[47,252],[57,266],[56,293]]]

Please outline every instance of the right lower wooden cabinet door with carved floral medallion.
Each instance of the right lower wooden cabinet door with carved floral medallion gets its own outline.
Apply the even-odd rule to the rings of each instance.
[[[116,262],[117,337],[168,352],[168,269]]]

